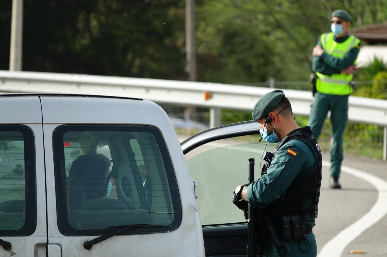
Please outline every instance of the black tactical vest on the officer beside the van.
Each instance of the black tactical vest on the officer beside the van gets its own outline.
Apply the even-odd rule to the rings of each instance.
[[[310,129],[310,127],[307,126],[304,128],[295,129],[291,133],[286,135],[274,151],[272,159],[274,159],[277,151],[285,143],[293,139],[303,140],[310,146],[310,148],[313,149],[316,158],[315,163],[317,163],[317,165],[315,165],[316,167],[314,171],[309,176],[296,177],[290,184],[288,189],[286,189],[286,191],[283,193],[281,198],[277,199],[276,201],[270,203],[267,207],[265,207],[265,211],[273,218],[275,218],[276,216],[279,218],[283,215],[293,214],[300,215],[300,217],[303,217],[307,213],[315,214],[317,217],[322,178],[322,156],[319,143],[312,136],[312,130]],[[267,162],[265,166],[265,170],[267,170],[267,168],[269,168],[270,166],[270,162]],[[311,196],[313,197],[312,204],[307,208],[303,208],[302,202]]]

